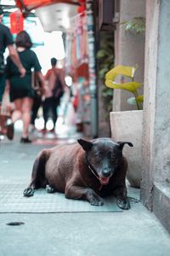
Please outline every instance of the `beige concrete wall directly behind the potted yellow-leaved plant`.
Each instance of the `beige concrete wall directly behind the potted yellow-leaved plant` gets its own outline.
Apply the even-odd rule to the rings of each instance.
[[[126,32],[123,21],[132,20],[134,17],[145,16],[145,0],[121,0],[120,22],[115,32],[115,64],[135,66],[139,68],[135,80],[144,82],[144,34]],[[134,106],[127,104],[131,93],[124,90],[114,90],[113,111],[131,110]]]

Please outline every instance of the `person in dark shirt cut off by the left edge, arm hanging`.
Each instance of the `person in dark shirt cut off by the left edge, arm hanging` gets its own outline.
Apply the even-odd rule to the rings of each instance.
[[[3,100],[3,93],[5,88],[5,64],[3,54],[5,49],[8,48],[8,53],[11,59],[14,61],[15,65],[18,67],[20,77],[24,77],[26,74],[26,69],[23,67],[20,57],[14,48],[14,40],[8,26],[4,26],[3,23],[3,9],[0,7],[0,107]],[[0,114],[0,132],[5,135],[7,133],[6,129],[7,117]]]

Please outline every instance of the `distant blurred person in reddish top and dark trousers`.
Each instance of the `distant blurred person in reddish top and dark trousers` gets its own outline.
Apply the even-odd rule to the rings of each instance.
[[[57,108],[59,107],[60,98],[65,92],[65,71],[63,68],[56,67],[57,60],[51,58],[51,68],[45,75],[45,80],[47,82],[47,89],[45,94],[45,100],[42,102],[43,108],[43,119],[44,128],[42,132],[47,132],[47,122],[50,117],[50,112],[52,113],[53,129],[55,131],[55,125],[58,118]]]

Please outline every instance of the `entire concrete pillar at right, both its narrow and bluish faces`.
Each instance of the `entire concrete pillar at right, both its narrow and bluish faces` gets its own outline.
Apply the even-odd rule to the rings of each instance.
[[[170,2],[146,3],[141,199],[170,231]]]

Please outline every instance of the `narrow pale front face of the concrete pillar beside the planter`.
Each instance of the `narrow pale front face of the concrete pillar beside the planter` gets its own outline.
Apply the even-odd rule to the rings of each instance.
[[[144,67],[144,125],[143,159],[144,169],[141,181],[141,196],[144,205],[152,207],[153,166],[154,162],[154,125],[156,109],[156,73],[158,47],[159,3],[156,0],[146,3],[146,42]]]

